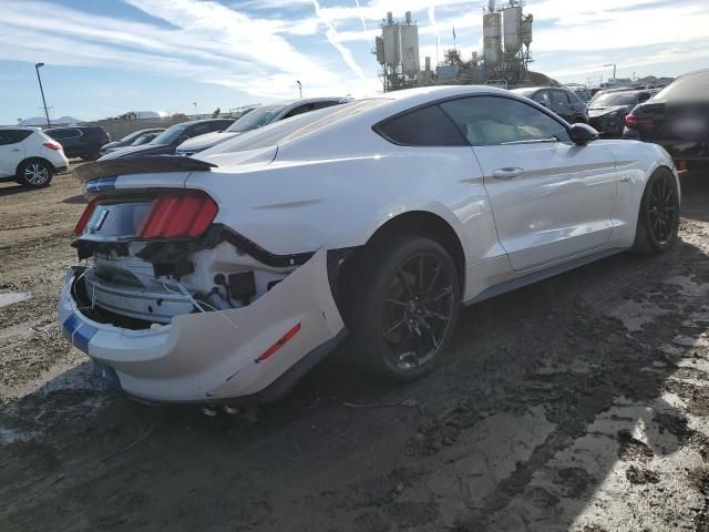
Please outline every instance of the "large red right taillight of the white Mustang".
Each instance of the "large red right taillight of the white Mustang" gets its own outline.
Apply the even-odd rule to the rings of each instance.
[[[202,235],[217,215],[217,204],[204,193],[160,196],[137,233],[138,238],[176,238]]]

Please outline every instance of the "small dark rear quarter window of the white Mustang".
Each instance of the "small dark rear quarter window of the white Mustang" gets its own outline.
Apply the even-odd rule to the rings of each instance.
[[[377,125],[389,142],[405,146],[466,146],[465,139],[439,105],[429,105]]]

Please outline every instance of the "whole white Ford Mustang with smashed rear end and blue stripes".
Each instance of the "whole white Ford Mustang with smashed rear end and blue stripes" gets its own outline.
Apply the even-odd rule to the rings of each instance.
[[[315,111],[199,160],[90,163],[65,336],[126,393],[267,402],[346,331],[373,368],[429,371],[469,305],[677,238],[667,153],[599,141],[492,88]]]

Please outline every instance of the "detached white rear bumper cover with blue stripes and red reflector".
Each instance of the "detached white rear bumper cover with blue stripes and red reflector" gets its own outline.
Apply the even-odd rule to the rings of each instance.
[[[59,304],[64,336],[106,380],[155,402],[270,402],[345,336],[320,249],[247,307],[179,315],[169,325],[129,329],[88,318],[70,268]],[[296,325],[297,334],[273,352]]]

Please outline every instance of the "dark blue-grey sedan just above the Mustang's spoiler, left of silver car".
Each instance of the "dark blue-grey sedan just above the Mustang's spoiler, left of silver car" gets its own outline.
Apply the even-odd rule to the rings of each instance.
[[[147,155],[173,155],[175,149],[193,136],[204,135],[215,131],[224,131],[234,123],[234,119],[193,120],[172,125],[147,144],[127,146],[115,152],[106,153],[102,161],[109,158],[142,157]]]

